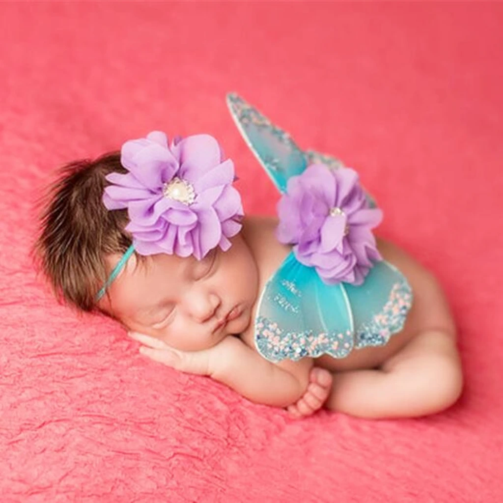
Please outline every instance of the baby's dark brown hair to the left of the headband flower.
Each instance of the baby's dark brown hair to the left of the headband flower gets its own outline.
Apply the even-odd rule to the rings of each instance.
[[[131,235],[127,210],[102,202],[109,173],[127,173],[120,152],[70,162],[44,202],[34,251],[58,299],[83,311],[98,310],[96,294],[108,276],[106,257],[124,254]]]

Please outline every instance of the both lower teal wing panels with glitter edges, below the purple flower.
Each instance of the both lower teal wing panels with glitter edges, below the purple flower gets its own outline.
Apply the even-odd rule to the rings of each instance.
[[[255,319],[255,344],[272,362],[382,346],[403,327],[412,294],[391,264],[376,264],[363,285],[325,285],[293,253],[266,284]]]

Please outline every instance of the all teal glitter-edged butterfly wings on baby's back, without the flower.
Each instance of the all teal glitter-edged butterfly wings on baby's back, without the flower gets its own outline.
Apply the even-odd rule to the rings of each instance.
[[[342,162],[315,151],[303,152],[288,133],[235,94],[227,96],[231,115],[251,151],[281,193],[291,177],[311,164],[339,170]],[[365,193],[369,208],[374,199]],[[383,346],[400,331],[412,304],[405,277],[381,260],[363,283],[326,284],[294,251],[261,292],[255,319],[255,344],[272,362],[328,354],[345,358],[353,350]]]

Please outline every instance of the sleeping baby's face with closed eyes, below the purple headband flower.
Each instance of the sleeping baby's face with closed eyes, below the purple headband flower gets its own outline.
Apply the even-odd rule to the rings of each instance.
[[[202,261],[160,254],[142,264],[133,257],[112,283],[103,307],[131,330],[173,348],[215,346],[248,326],[257,298],[255,260],[240,235],[231,241],[225,253],[217,247]]]

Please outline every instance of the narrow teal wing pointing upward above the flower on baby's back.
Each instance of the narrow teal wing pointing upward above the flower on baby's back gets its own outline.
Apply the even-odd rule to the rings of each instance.
[[[276,187],[285,192],[287,180],[300,175],[307,167],[304,153],[286,131],[238,95],[228,94],[227,105],[244,141]]]

